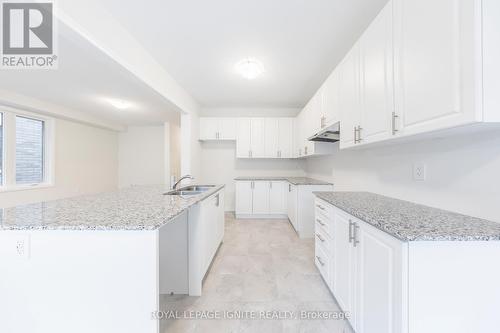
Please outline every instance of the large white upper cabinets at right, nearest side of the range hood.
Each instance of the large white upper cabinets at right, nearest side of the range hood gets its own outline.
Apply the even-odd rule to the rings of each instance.
[[[335,70],[340,147],[500,122],[499,22],[494,0],[389,1]]]

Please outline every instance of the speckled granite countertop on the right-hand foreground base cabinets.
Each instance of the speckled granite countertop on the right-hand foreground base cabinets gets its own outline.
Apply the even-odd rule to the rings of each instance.
[[[369,192],[315,192],[318,198],[402,241],[498,241],[500,223]]]

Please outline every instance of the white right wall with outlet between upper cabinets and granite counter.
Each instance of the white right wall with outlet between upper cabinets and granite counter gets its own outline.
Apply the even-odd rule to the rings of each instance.
[[[414,163],[427,180],[413,180]],[[310,158],[310,177],[500,222],[500,133],[477,133]]]

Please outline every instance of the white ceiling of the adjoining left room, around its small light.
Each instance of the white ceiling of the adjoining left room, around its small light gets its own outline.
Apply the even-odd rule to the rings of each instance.
[[[57,70],[2,70],[0,89],[118,125],[178,122],[177,108],[164,97],[62,23],[58,33]],[[118,110],[104,98],[127,100],[134,106]]]

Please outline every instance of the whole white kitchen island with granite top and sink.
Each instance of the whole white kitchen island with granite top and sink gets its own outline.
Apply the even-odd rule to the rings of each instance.
[[[224,186],[165,186],[5,208],[0,332],[158,332],[161,294],[201,295],[224,234]]]

